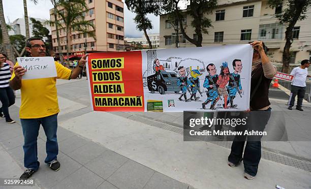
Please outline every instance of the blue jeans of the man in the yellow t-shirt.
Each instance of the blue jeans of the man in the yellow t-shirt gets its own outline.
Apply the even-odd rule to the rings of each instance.
[[[38,170],[38,150],[37,138],[39,135],[40,124],[46,135],[46,153],[45,163],[50,163],[57,159],[58,144],[57,144],[57,114],[35,119],[20,119],[23,135],[24,135],[24,166]]]

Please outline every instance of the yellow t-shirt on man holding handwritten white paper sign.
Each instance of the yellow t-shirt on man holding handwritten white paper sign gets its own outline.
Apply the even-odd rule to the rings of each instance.
[[[15,66],[18,66],[16,62]],[[70,79],[71,70],[55,61],[57,77],[21,80],[21,119],[40,118],[59,112],[57,101],[57,79]],[[13,72],[11,80],[15,77]]]

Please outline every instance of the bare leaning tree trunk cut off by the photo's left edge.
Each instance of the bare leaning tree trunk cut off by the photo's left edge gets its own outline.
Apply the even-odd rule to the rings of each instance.
[[[6,24],[6,20],[3,13],[3,4],[2,0],[0,0],[0,23],[1,23],[1,29],[2,29],[2,41],[4,49],[9,57],[10,60],[14,61],[15,57],[13,55],[12,46],[9,38],[8,28]]]

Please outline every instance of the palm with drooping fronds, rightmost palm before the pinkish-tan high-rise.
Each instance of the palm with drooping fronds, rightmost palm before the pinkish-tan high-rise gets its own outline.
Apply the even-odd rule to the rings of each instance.
[[[71,37],[71,31],[81,31],[83,27],[95,28],[94,24],[84,20],[83,12],[88,10],[85,0],[59,0],[58,6],[64,8],[57,10],[58,15],[64,20],[66,43],[67,43],[67,61],[69,61],[69,51],[71,44],[69,44],[69,38]]]

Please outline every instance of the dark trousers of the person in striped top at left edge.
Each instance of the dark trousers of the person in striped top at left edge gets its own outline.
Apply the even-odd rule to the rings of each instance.
[[[9,107],[15,103],[15,96],[11,87],[0,88],[0,101],[2,103],[0,113],[3,112],[6,120],[10,120]]]

